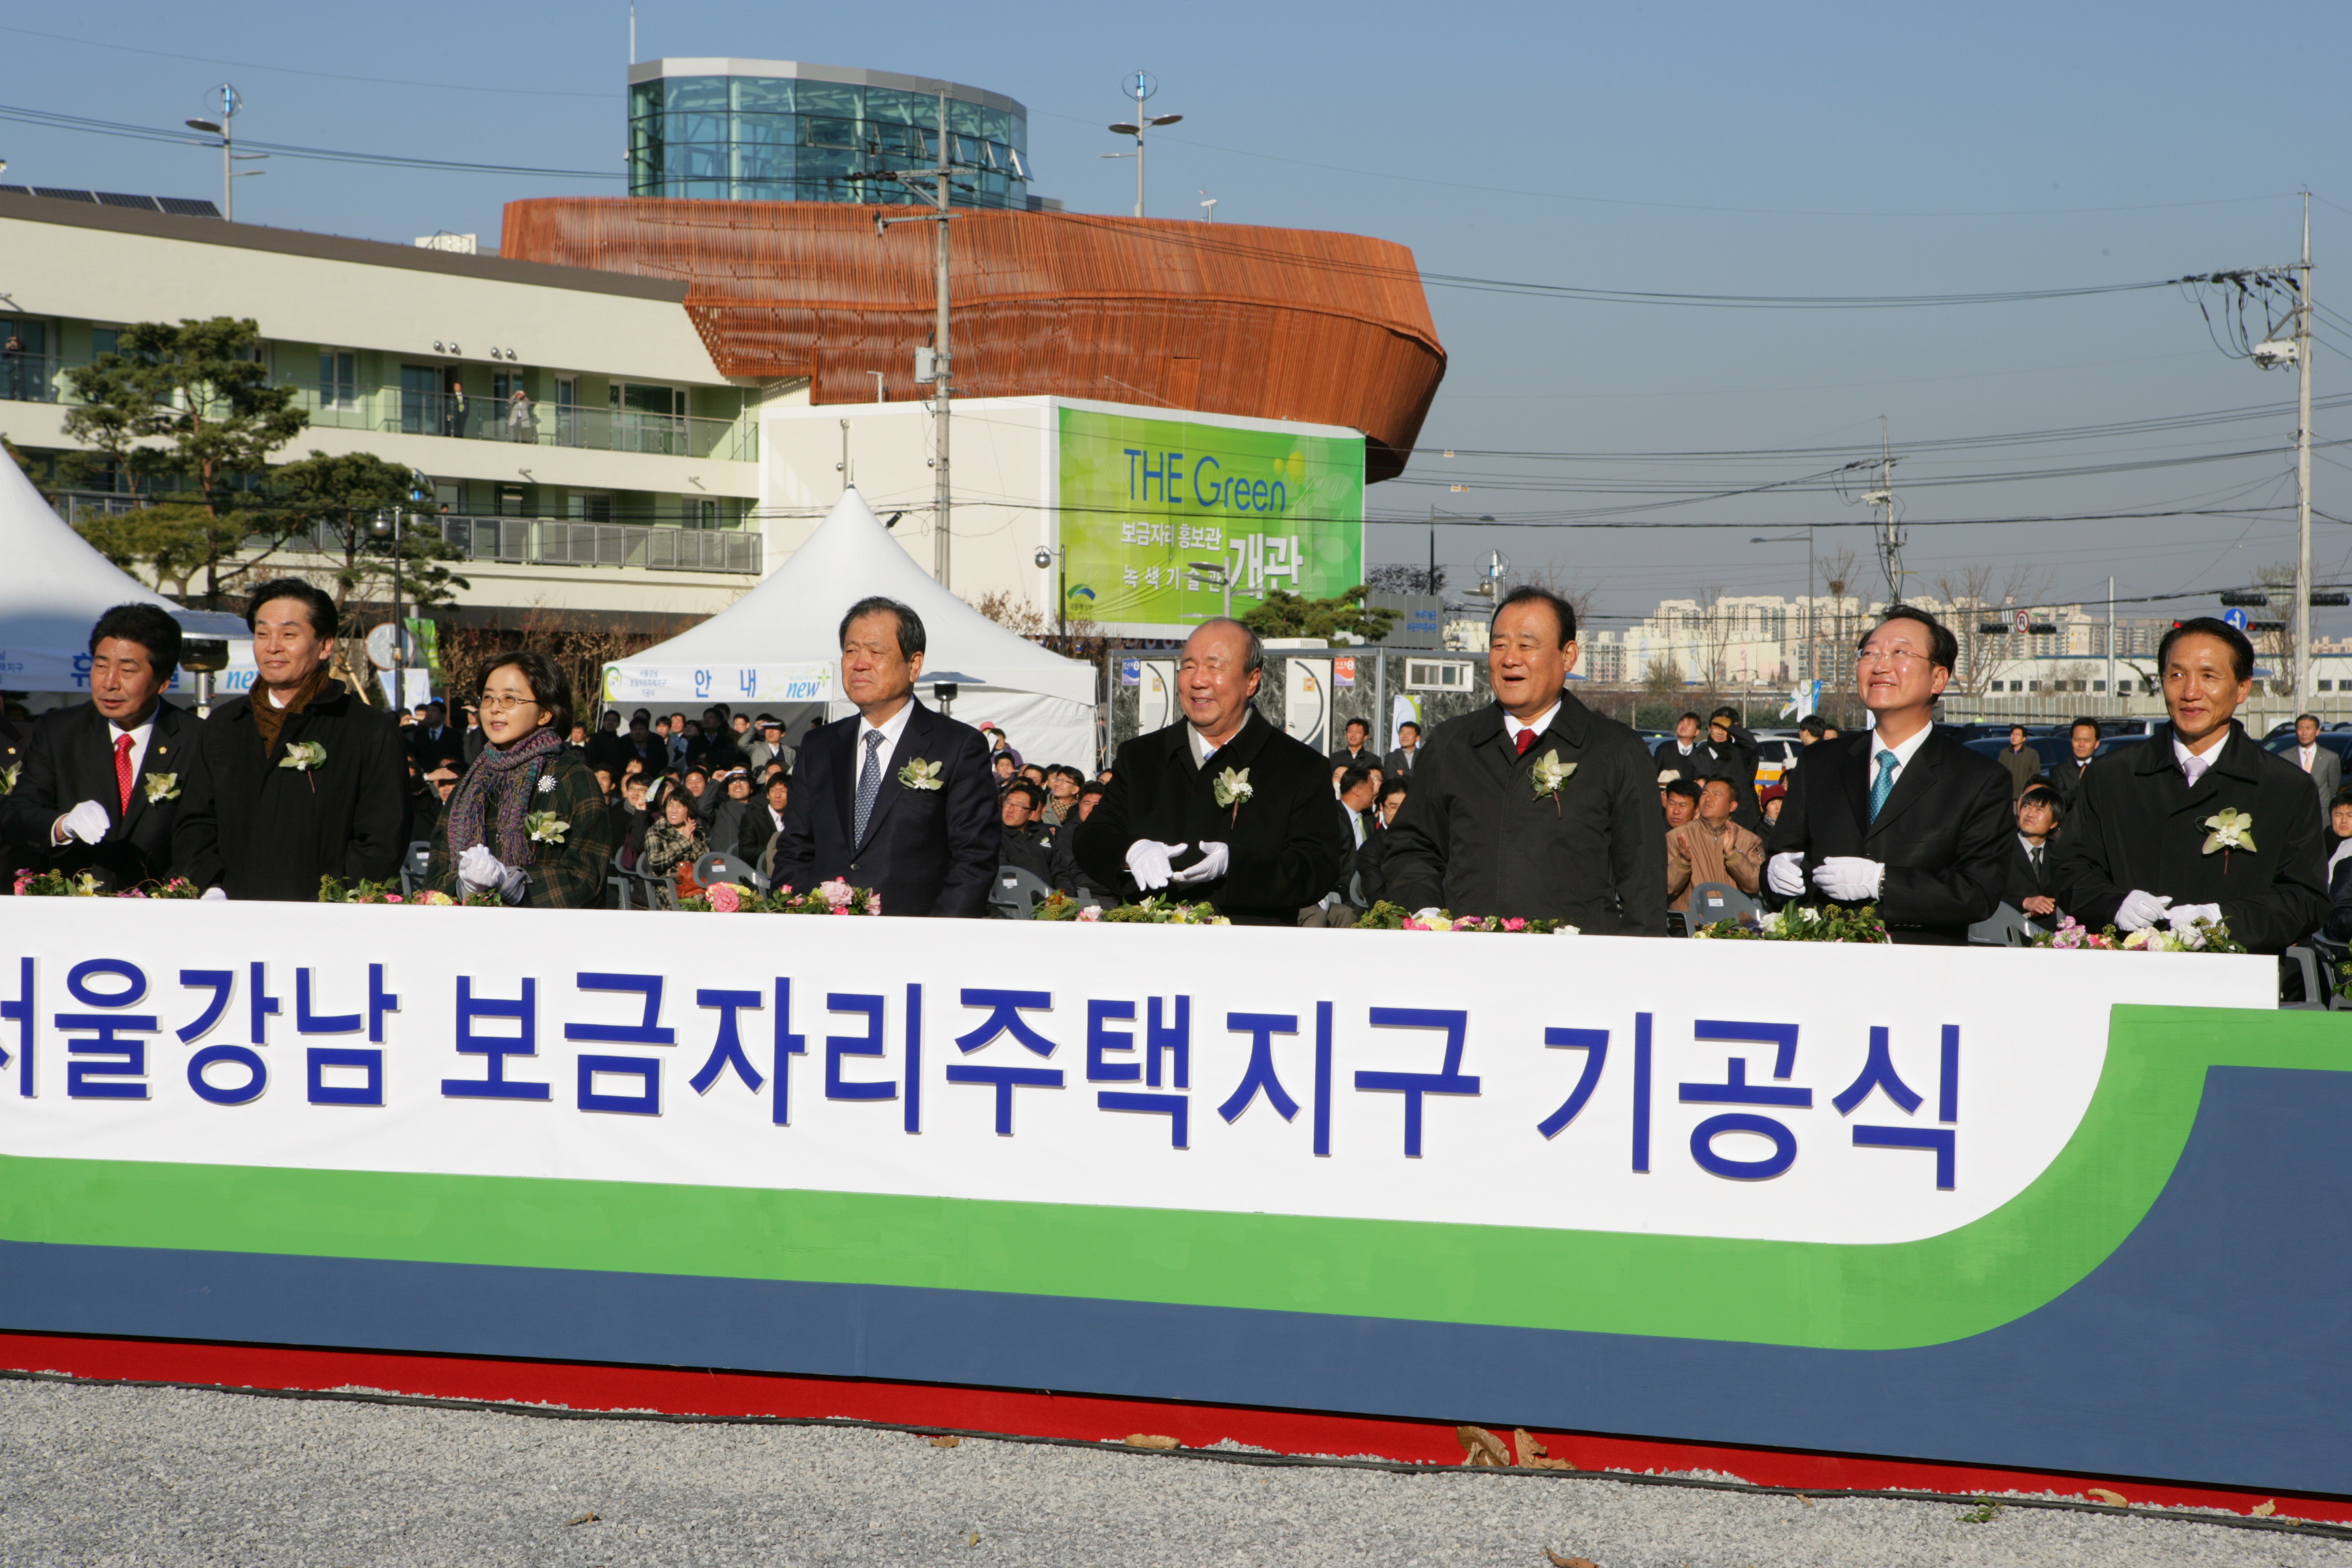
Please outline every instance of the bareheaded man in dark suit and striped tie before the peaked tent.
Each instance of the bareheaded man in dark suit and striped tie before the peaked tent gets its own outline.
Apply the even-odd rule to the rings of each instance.
[[[847,879],[884,914],[988,912],[997,875],[997,792],[969,724],[915,701],[927,637],[896,599],[842,616],[842,693],[858,705],[809,733],[776,844],[776,886]]]

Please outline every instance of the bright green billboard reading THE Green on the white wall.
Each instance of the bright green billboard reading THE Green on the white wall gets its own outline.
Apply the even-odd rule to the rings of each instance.
[[[1364,581],[1364,440],[1061,409],[1070,616],[1183,625]]]

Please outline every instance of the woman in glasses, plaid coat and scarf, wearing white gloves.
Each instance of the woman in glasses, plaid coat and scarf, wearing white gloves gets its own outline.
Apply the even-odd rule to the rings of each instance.
[[[602,905],[612,813],[595,773],[564,750],[569,731],[572,682],[553,658],[522,649],[482,672],[487,745],[442,806],[428,886],[534,910]]]

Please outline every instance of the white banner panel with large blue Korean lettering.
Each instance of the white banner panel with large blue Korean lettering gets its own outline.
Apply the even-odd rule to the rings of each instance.
[[[0,1152],[1910,1241],[2274,959],[0,903]]]

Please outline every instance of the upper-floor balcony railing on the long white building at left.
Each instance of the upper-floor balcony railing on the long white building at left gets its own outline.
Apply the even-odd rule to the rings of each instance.
[[[61,355],[0,355],[0,402],[80,402],[66,381],[68,369],[87,360]],[[292,386],[294,407],[320,430],[386,430],[397,435],[442,435],[468,442],[517,442],[524,447],[579,447],[583,451],[644,451],[677,458],[717,458],[753,463],[760,458],[760,425],[748,418],[694,418],[687,414],[647,414],[574,402],[515,404],[501,397],[454,397],[449,393],[412,393],[383,388],[320,388],[315,381],[280,381]]]

